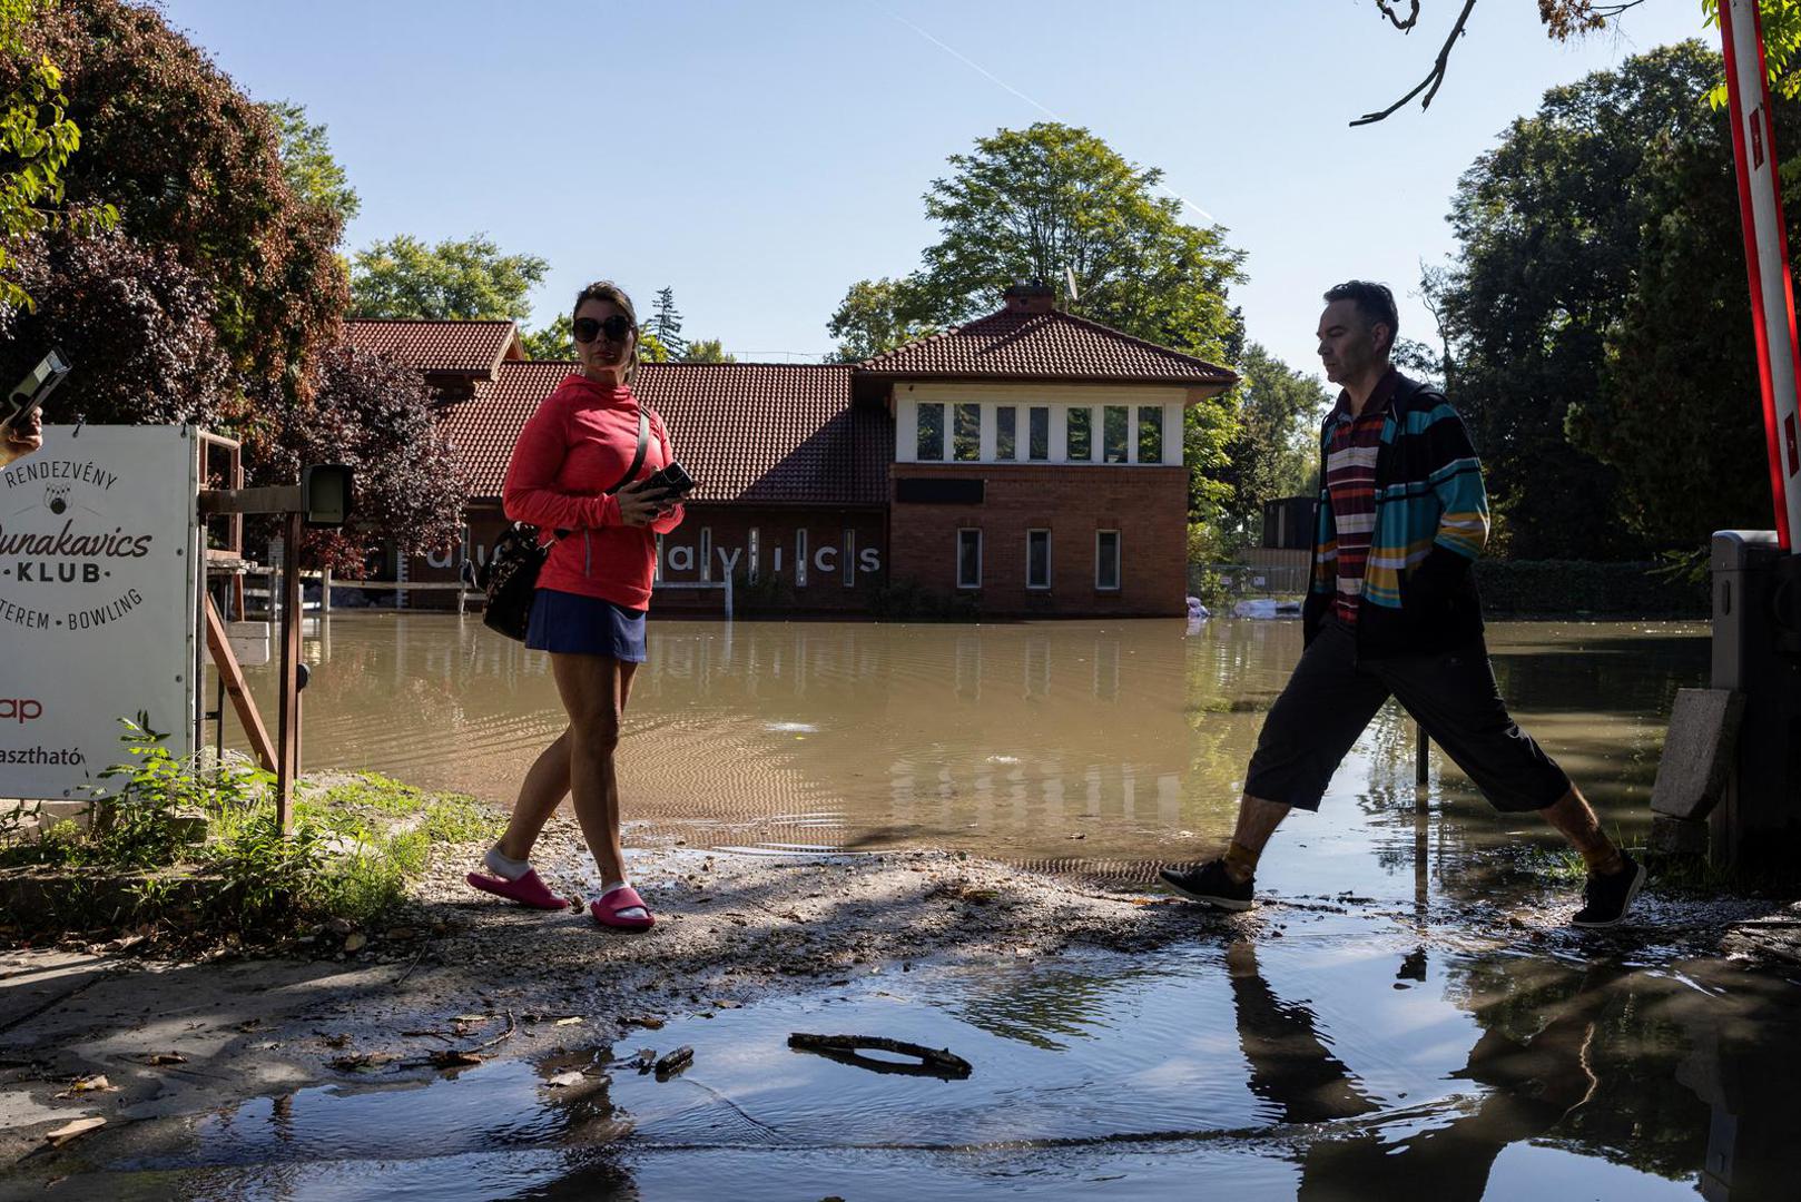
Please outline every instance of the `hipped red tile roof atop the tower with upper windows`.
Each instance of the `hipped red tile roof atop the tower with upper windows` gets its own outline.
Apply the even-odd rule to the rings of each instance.
[[[857,364],[879,377],[1228,386],[1217,364],[1086,317],[1007,308]]]

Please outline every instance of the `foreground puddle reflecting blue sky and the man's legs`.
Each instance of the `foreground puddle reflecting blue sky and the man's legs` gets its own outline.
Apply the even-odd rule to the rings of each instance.
[[[1443,948],[1360,915],[1214,939],[890,970],[611,1049],[130,1125],[38,1197],[1792,1197],[1796,982]],[[794,1031],[973,1072],[872,1072]],[[693,1065],[666,1081],[611,1060],[679,1045]]]

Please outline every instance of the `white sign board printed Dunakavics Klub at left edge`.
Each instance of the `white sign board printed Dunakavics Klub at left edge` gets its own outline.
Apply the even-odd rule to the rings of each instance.
[[[0,798],[86,798],[139,710],[195,739],[195,496],[184,425],[47,425],[0,469]]]

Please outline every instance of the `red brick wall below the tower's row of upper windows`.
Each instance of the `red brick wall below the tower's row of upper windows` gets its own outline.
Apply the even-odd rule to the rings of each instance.
[[[895,463],[902,479],[982,479],[980,505],[890,506],[890,577],[971,593],[987,616],[1187,613],[1187,470],[1181,467]],[[960,528],[982,530],[982,586],[958,587]],[[1027,587],[1027,532],[1050,532],[1050,587]],[[1120,587],[1095,586],[1095,537],[1117,530]]]

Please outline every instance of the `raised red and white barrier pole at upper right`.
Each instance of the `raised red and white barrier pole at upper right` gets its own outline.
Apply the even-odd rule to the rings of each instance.
[[[1720,40],[1725,43],[1725,90],[1733,115],[1733,159],[1738,164],[1738,207],[1745,225],[1776,537],[1785,551],[1794,551],[1790,533],[1801,530],[1801,479],[1796,478],[1801,472],[1801,418],[1796,414],[1801,348],[1796,342],[1796,297],[1788,278],[1788,232],[1781,182],[1776,178],[1776,133],[1758,0],[1720,0]]]

